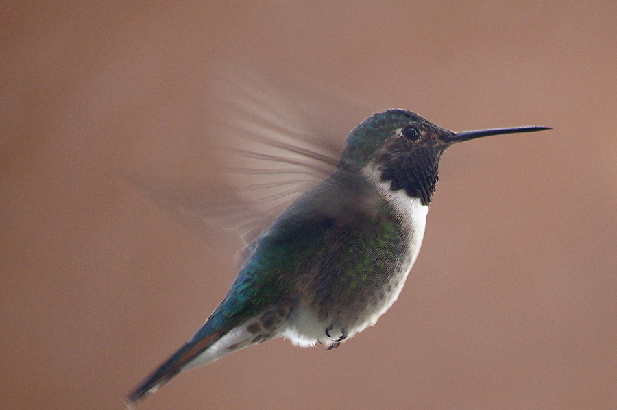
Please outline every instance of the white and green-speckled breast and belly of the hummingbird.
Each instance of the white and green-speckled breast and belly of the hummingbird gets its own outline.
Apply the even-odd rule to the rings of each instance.
[[[326,329],[333,329],[330,334],[339,330],[350,338],[376,324],[402,291],[420,252],[428,206],[403,189],[391,191],[385,182],[374,186],[386,210],[376,218],[375,223],[381,224],[372,230],[376,236],[359,228],[343,230],[337,241],[328,242],[330,246],[322,250],[328,257],[317,258],[317,274],[307,281],[312,286],[306,286],[309,291],[302,293],[303,302],[293,309],[281,332],[293,343],[328,344]],[[354,252],[343,252],[356,241],[363,245]]]

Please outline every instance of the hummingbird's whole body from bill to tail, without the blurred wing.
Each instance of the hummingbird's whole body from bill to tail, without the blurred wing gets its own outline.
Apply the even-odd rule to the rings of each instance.
[[[394,304],[418,257],[442,154],[527,126],[452,132],[386,110],[350,132],[335,170],[256,240],[205,324],[127,397],[132,407],[183,370],[275,337],[337,348]]]

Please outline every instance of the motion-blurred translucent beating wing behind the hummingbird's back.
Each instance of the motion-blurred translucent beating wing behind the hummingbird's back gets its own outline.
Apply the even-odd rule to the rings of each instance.
[[[334,171],[354,126],[355,104],[315,87],[289,85],[280,75],[237,67],[221,69],[225,75],[210,104],[215,109],[209,110],[215,120],[206,130],[223,169],[221,180],[169,186],[128,179],[191,230],[217,224],[247,245],[298,195]],[[278,83],[266,80],[275,77]]]

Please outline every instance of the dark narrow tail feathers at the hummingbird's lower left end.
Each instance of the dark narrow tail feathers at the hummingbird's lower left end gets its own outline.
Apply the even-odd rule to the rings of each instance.
[[[150,394],[154,393],[159,387],[167,383],[173,376],[176,376],[187,364],[195,357],[199,356],[204,350],[210,347],[215,341],[221,338],[225,332],[219,331],[211,333],[203,339],[191,339],[178,352],[174,353],[165,363],[160,365],[154,373],[141,383],[126,398],[126,405],[133,408]]]

